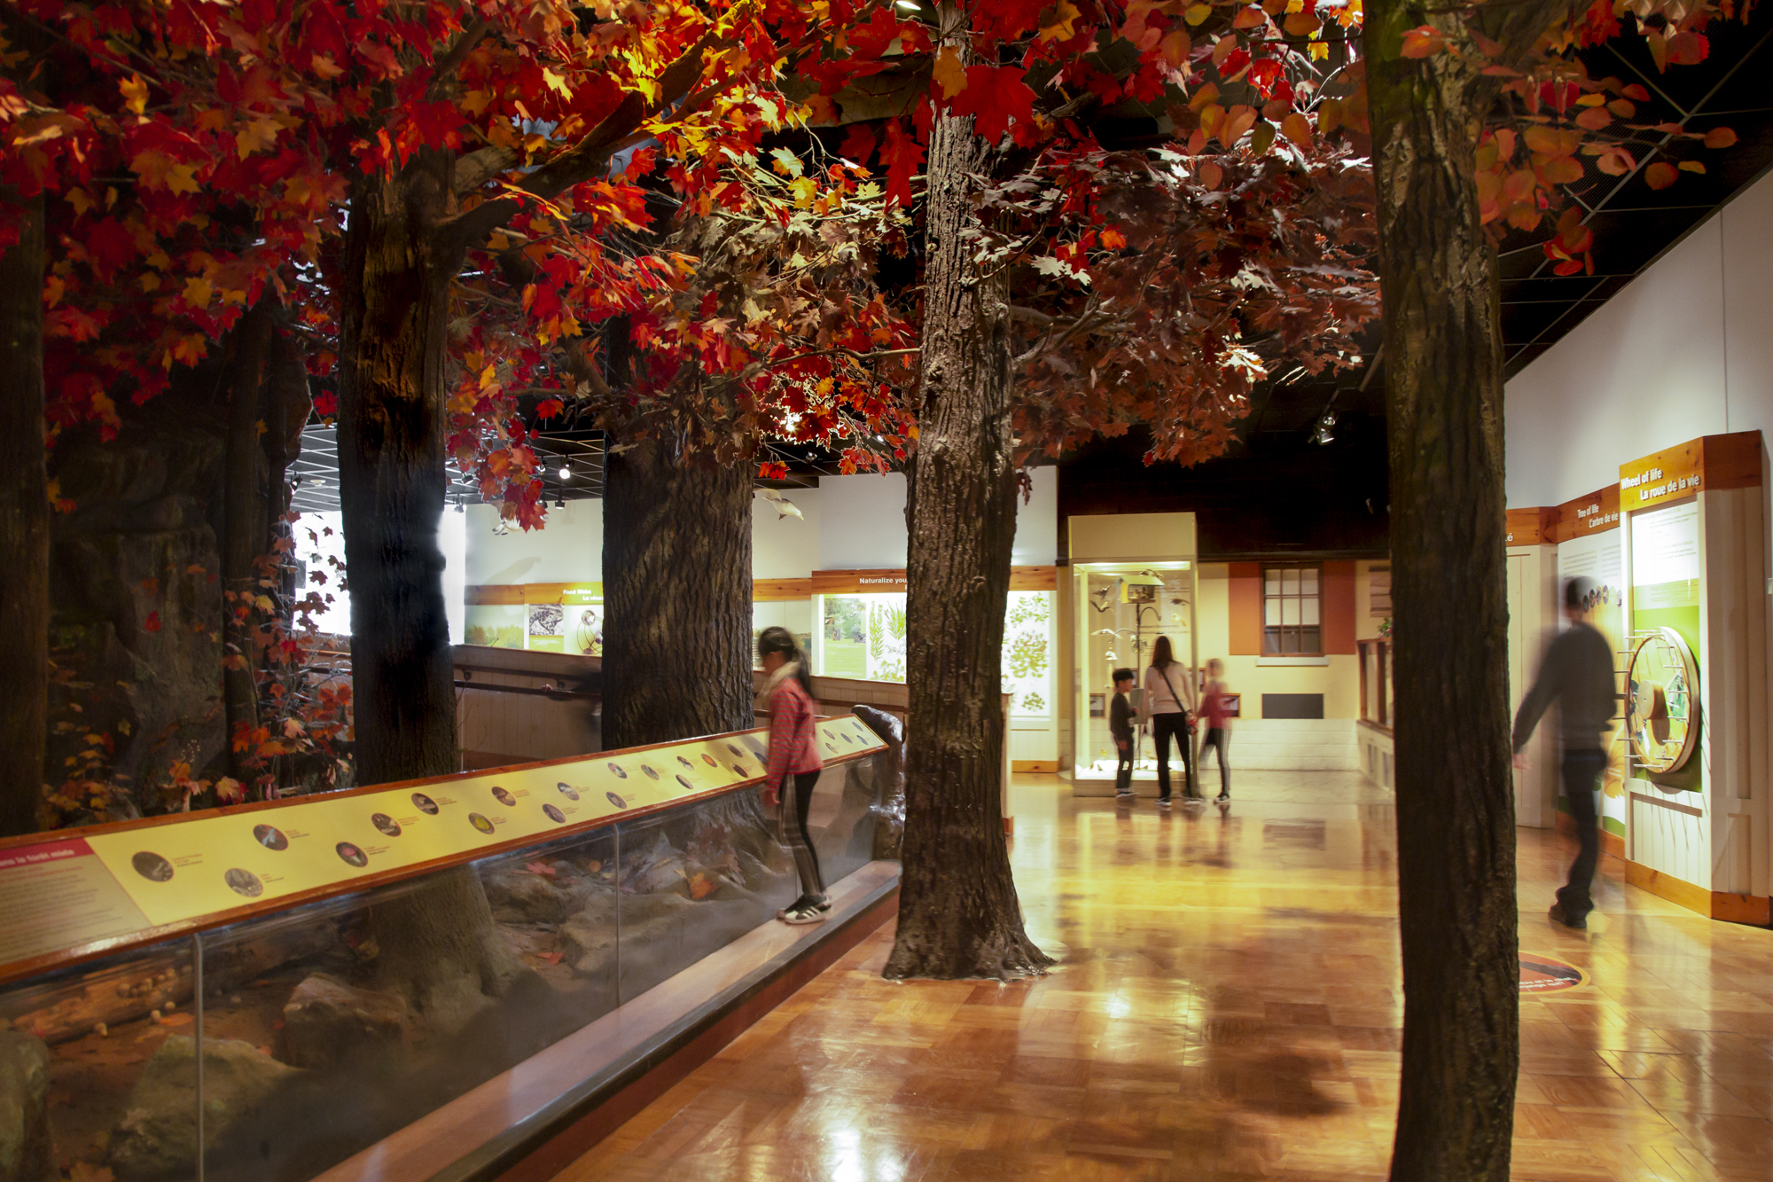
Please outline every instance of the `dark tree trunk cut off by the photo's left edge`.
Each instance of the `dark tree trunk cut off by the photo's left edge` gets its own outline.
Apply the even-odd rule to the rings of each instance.
[[[0,256],[0,836],[37,829],[50,699],[41,195],[18,225]]]

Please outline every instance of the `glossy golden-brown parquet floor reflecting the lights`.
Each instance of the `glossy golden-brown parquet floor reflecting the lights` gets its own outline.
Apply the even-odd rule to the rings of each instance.
[[[1051,976],[888,983],[883,930],[558,1177],[1383,1178],[1392,806],[1347,774],[1236,788],[1160,815],[1018,777],[1016,884]],[[1521,999],[1514,1177],[1768,1182],[1773,932],[1624,887],[1619,863],[1592,930],[1557,928],[1566,859],[1519,832],[1521,948],[1592,981]]]

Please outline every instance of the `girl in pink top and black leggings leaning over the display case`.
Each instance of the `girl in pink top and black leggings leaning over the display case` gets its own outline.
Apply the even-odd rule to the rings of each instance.
[[[824,896],[819,855],[807,831],[812,788],[824,770],[814,728],[819,710],[812,697],[812,673],[807,655],[800,651],[800,642],[787,628],[764,628],[757,637],[757,657],[769,674],[764,683],[764,699],[769,703],[764,804],[775,806],[782,845],[794,855],[794,870],[800,875],[800,898],[778,910],[777,918],[784,923],[821,923],[832,903]]]

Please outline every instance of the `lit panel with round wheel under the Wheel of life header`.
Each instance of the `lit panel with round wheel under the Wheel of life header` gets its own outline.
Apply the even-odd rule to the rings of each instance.
[[[1693,792],[1702,788],[1700,761],[1675,760],[1668,742],[1679,731],[1677,747],[1691,751],[1700,726],[1699,579],[1697,500],[1631,515],[1633,747],[1656,783]],[[1645,650],[1645,639],[1656,642]]]

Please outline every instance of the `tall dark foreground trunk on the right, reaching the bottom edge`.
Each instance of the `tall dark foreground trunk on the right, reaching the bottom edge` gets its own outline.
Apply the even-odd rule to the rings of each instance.
[[[1488,5],[1486,5],[1488,7]],[[1528,48],[1560,9],[1496,5]],[[1397,886],[1404,967],[1394,1182],[1505,1182],[1519,1065],[1509,779],[1502,332],[1473,154],[1482,57],[1404,59],[1454,9],[1378,0],[1365,21],[1397,637]]]

